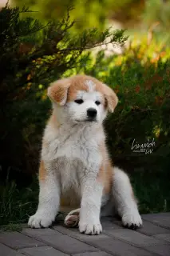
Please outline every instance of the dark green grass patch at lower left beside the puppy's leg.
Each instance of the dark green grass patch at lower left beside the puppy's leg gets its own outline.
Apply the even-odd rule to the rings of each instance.
[[[26,223],[37,208],[38,182],[18,190],[15,182],[0,186],[0,226]]]

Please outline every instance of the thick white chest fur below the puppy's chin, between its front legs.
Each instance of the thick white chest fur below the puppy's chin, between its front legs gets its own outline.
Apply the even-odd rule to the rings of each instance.
[[[80,198],[83,180],[90,174],[98,174],[102,162],[102,154],[98,149],[104,134],[93,132],[92,136],[91,133],[90,127],[77,130],[77,127],[68,126],[54,130],[47,126],[45,130],[47,146],[42,148],[42,159],[53,162],[61,194],[73,197],[74,190]]]

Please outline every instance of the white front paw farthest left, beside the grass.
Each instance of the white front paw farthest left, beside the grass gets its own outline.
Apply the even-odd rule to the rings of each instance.
[[[49,227],[51,226],[53,219],[45,217],[43,214],[34,214],[30,216],[28,226],[39,229],[42,227]]]

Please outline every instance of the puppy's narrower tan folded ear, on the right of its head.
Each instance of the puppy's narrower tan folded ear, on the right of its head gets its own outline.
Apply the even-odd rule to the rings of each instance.
[[[103,92],[107,102],[108,110],[109,112],[113,113],[118,103],[117,94],[115,94],[115,92],[105,84],[103,84]]]

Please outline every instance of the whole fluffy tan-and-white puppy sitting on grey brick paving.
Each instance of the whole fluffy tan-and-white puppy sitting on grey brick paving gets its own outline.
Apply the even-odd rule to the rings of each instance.
[[[142,224],[127,174],[113,167],[102,122],[117,95],[96,78],[77,75],[48,89],[53,114],[45,127],[39,168],[39,203],[29,226],[48,227],[60,206],[71,211],[66,226],[100,234],[100,216],[119,214],[124,226]],[[63,209],[63,208],[61,208]]]

